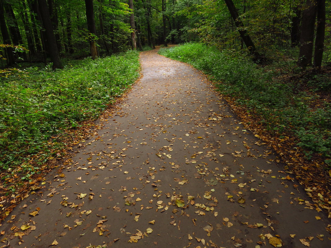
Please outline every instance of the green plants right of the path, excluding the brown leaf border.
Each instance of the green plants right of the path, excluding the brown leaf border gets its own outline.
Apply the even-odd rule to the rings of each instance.
[[[187,43],[159,54],[189,63],[213,76],[222,94],[234,97],[237,104],[247,107],[261,117],[269,131],[282,134],[292,132],[297,146],[304,148],[307,158],[321,155],[330,166],[331,158],[331,106],[322,103],[310,108],[315,94],[300,91],[298,84],[276,80],[276,70],[261,68],[242,53],[233,50],[219,51],[201,43]],[[331,88],[330,78],[315,76],[308,82],[312,90]]]

